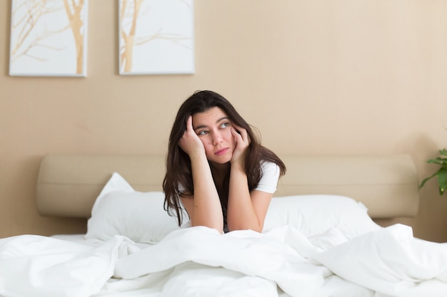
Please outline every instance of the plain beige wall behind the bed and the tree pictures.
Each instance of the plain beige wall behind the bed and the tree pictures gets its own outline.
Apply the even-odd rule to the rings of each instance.
[[[0,1],[0,236],[84,231],[39,217],[46,152],[164,152],[180,103],[225,95],[278,153],[409,153],[419,177],[447,146],[447,1],[196,0],[194,75],[117,74],[117,1],[89,1],[87,78],[10,77]],[[447,197],[421,190],[416,236],[447,241]]]

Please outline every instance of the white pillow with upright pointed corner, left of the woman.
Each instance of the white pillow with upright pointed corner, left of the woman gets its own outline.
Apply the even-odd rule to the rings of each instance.
[[[108,240],[119,234],[136,242],[156,244],[180,229],[176,217],[170,217],[163,205],[163,192],[136,192],[115,172],[91,209],[86,238]]]

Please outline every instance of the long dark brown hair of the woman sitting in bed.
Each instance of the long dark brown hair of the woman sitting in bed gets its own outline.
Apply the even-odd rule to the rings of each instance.
[[[190,115],[203,113],[210,108],[220,108],[228,115],[231,122],[243,127],[251,140],[245,160],[245,172],[248,178],[248,190],[256,188],[262,177],[261,162],[276,163],[280,168],[280,174],[286,173],[286,165],[271,150],[261,145],[257,135],[246,120],[233,108],[233,105],[222,95],[211,90],[197,91],[180,106],[174,120],[174,125],[169,136],[168,154],[166,156],[166,175],[163,180],[165,194],[164,209],[172,216],[177,217],[179,226],[183,221],[184,212],[181,207],[180,196],[194,196],[194,185],[191,172],[191,160],[179,147],[179,141],[186,130],[186,120]],[[227,181],[228,182],[228,181]],[[179,189],[182,185],[184,189]],[[225,185],[228,188],[228,184]],[[220,193],[219,193],[220,195]],[[228,196],[228,194],[226,194]],[[220,197],[225,201],[228,197]]]

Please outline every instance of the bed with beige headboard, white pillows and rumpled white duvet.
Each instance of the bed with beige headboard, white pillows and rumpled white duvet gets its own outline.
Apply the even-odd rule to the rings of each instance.
[[[408,155],[283,155],[261,233],[219,234],[163,209],[163,155],[48,154],[42,216],[88,218],[86,234],[0,239],[0,296],[447,296],[447,245],[410,226]]]

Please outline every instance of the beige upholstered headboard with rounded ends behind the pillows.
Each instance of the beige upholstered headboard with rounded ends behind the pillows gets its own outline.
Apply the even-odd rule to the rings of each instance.
[[[418,212],[418,178],[409,155],[281,155],[281,159],[287,173],[278,183],[276,197],[344,195],[365,204],[373,218],[413,217]],[[136,190],[161,191],[164,165],[163,155],[48,154],[37,179],[39,213],[90,217],[96,197],[113,172]]]

